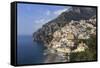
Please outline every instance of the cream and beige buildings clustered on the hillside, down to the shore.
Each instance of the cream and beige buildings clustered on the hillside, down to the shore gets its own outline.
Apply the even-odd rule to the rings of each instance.
[[[69,24],[55,31],[44,55],[56,54],[56,60],[51,62],[70,62],[71,53],[84,52],[88,49],[86,43],[80,40],[89,39],[91,34],[96,35],[96,26],[93,23],[96,24],[96,19],[72,20]],[[45,62],[48,63],[50,60]]]

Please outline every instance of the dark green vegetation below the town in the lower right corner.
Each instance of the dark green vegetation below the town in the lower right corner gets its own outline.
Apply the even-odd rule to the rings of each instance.
[[[71,53],[70,61],[91,61],[96,60],[96,36],[91,35],[87,40],[79,40],[86,43],[88,49],[85,52]]]

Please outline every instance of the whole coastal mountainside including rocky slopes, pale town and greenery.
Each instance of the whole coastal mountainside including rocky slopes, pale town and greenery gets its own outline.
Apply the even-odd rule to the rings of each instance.
[[[90,42],[96,39],[96,9],[72,7],[44,24],[33,34],[33,38],[34,41],[43,42],[46,47],[45,63],[95,60],[96,42],[93,44],[94,48],[90,46]],[[74,58],[75,53],[83,58]]]

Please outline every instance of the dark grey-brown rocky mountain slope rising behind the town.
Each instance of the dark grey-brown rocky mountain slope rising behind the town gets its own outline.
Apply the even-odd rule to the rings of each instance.
[[[55,31],[61,29],[72,20],[88,20],[94,15],[96,15],[95,8],[72,7],[70,11],[65,11],[56,19],[44,24],[42,28],[33,34],[33,38],[35,41],[42,41],[44,44],[48,45],[52,41]]]

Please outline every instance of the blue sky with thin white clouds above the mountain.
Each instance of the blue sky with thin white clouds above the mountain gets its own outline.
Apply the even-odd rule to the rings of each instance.
[[[43,4],[17,4],[17,33],[18,35],[32,35],[43,24],[68,10],[69,6],[54,6]]]

